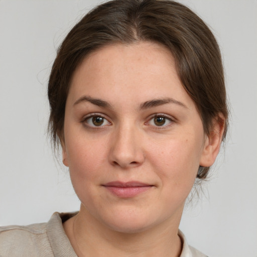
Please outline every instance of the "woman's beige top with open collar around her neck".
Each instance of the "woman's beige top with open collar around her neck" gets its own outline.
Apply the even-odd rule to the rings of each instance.
[[[0,227],[0,257],[77,257],[62,223],[76,213],[55,212],[47,223]],[[184,234],[180,257],[207,257],[189,246]]]

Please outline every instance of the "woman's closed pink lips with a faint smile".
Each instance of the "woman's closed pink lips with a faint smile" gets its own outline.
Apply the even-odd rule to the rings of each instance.
[[[109,190],[112,194],[123,198],[137,196],[152,188],[152,185],[141,183],[138,181],[129,181],[129,182],[112,181],[104,184],[103,186],[107,190]]]

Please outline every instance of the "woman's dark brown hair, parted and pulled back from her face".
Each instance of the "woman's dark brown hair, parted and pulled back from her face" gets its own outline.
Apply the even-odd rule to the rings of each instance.
[[[58,49],[48,84],[49,131],[55,147],[63,139],[65,103],[76,67],[92,51],[113,43],[158,42],[170,49],[181,82],[195,102],[204,132],[228,109],[221,55],[205,23],[182,4],[165,0],[114,0],[85,15]],[[204,179],[209,167],[199,167]]]

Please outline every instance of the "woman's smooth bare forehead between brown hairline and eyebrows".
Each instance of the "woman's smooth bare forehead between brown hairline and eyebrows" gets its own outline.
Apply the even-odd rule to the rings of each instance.
[[[181,101],[191,99],[181,84],[171,52],[151,42],[109,45],[88,55],[73,74],[68,98],[75,101],[83,94],[108,101],[133,98],[142,102],[167,94]]]

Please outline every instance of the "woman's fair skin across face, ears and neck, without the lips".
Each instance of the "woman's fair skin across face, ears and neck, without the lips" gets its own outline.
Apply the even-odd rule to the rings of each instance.
[[[103,123],[94,123],[99,117]],[[76,253],[179,256],[186,197],[199,165],[215,161],[222,132],[216,122],[204,134],[165,47],[110,45],[87,56],[71,81],[62,139],[63,163],[81,201],[64,223]],[[149,187],[120,197],[105,186],[112,181]]]

